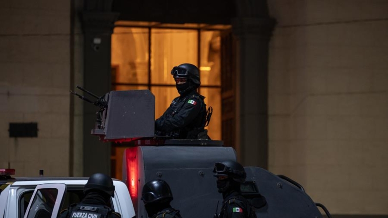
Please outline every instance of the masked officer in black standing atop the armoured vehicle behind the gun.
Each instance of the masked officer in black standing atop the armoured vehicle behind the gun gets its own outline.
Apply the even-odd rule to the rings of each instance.
[[[174,139],[199,139],[201,135],[204,138],[207,111],[205,97],[196,91],[201,85],[198,67],[183,63],[173,67],[171,75],[180,96],[173,99],[164,114],[155,120],[156,135]],[[207,139],[207,132],[205,136]]]

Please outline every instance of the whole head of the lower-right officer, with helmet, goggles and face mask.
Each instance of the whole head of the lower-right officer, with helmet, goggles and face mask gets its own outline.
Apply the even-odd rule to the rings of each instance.
[[[217,189],[220,193],[240,192],[240,185],[246,178],[244,167],[232,160],[216,163],[213,173],[218,178]]]

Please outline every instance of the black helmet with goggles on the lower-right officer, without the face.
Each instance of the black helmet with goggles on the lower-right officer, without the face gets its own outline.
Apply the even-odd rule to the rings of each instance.
[[[232,160],[216,163],[213,170],[214,176],[227,176],[237,182],[244,182],[246,173],[244,167]]]

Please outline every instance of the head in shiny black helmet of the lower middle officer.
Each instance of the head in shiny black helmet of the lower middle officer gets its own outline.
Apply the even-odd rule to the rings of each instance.
[[[170,186],[162,179],[151,180],[143,186],[142,200],[150,218],[163,209],[170,208],[172,199]]]

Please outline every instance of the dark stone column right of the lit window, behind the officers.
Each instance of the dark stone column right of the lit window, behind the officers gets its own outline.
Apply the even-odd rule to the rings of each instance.
[[[254,17],[232,20],[237,40],[236,147],[242,164],[267,169],[268,42],[275,20],[248,15]]]

